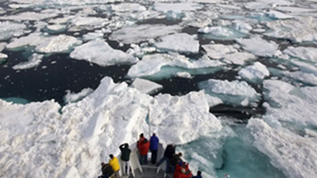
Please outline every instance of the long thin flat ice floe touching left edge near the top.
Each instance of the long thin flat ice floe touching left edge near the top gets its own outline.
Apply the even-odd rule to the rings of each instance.
[[[15,15],[0,16],[0,20],[39,21],[39,20],[53,18],[56,16],[58,16],[58,14],[55,14],[55,13],[41,14],[41,13],[37,13],[37,12],[22,12],[22,13],[18,13]]]

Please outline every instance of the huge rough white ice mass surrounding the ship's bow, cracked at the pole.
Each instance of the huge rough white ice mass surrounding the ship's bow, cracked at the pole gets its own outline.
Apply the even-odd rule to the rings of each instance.
[[[81,101],[63,107],[61,114],[54,101],[22,105],[0,100],[0,106],[4,177],[96,177],[95,168],[108,154],[117,155],[118,145],[148,134],[148,114],[154,132],[166,143],[184,144],[222,128],[209,113],[203,92],[153,98],[110,77]]]

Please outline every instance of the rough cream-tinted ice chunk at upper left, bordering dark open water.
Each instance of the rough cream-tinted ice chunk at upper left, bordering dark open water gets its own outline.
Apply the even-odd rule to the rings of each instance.
[[[72,46],[80,45],[81,43],[82,41],[77,40],[75,37],[60,34],[36,46],[35,51],[44,53],[69,52]]]

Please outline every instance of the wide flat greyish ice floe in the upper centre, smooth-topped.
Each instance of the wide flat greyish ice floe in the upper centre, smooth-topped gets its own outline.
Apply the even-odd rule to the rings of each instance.
[[[138,43],[150,38],[156,38],[180,31],[181,27],[178,25],[139,25],[137,27],[124,27],[114,31],[109,40],[116,40],[125,44]]]

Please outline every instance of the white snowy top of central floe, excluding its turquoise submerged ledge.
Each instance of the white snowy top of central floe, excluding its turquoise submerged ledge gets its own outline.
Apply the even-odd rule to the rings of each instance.
[[[190,61],[183,55],[171,54],[151,54],[146,55],[137,64],[129,69],[129,77],[151,76],[161,70],[163,66],[180,67],[184,69],[199,69],[222,66],[224,63],[216,60],[210,60],[204,56],[196,61]]]

